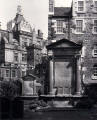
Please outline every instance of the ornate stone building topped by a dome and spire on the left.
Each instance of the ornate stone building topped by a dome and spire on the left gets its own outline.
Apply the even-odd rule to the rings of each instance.
[[[18,6],[16,16],[0,29],[0,80],[17,80],[41,61],[43,33],[32,29]]]

